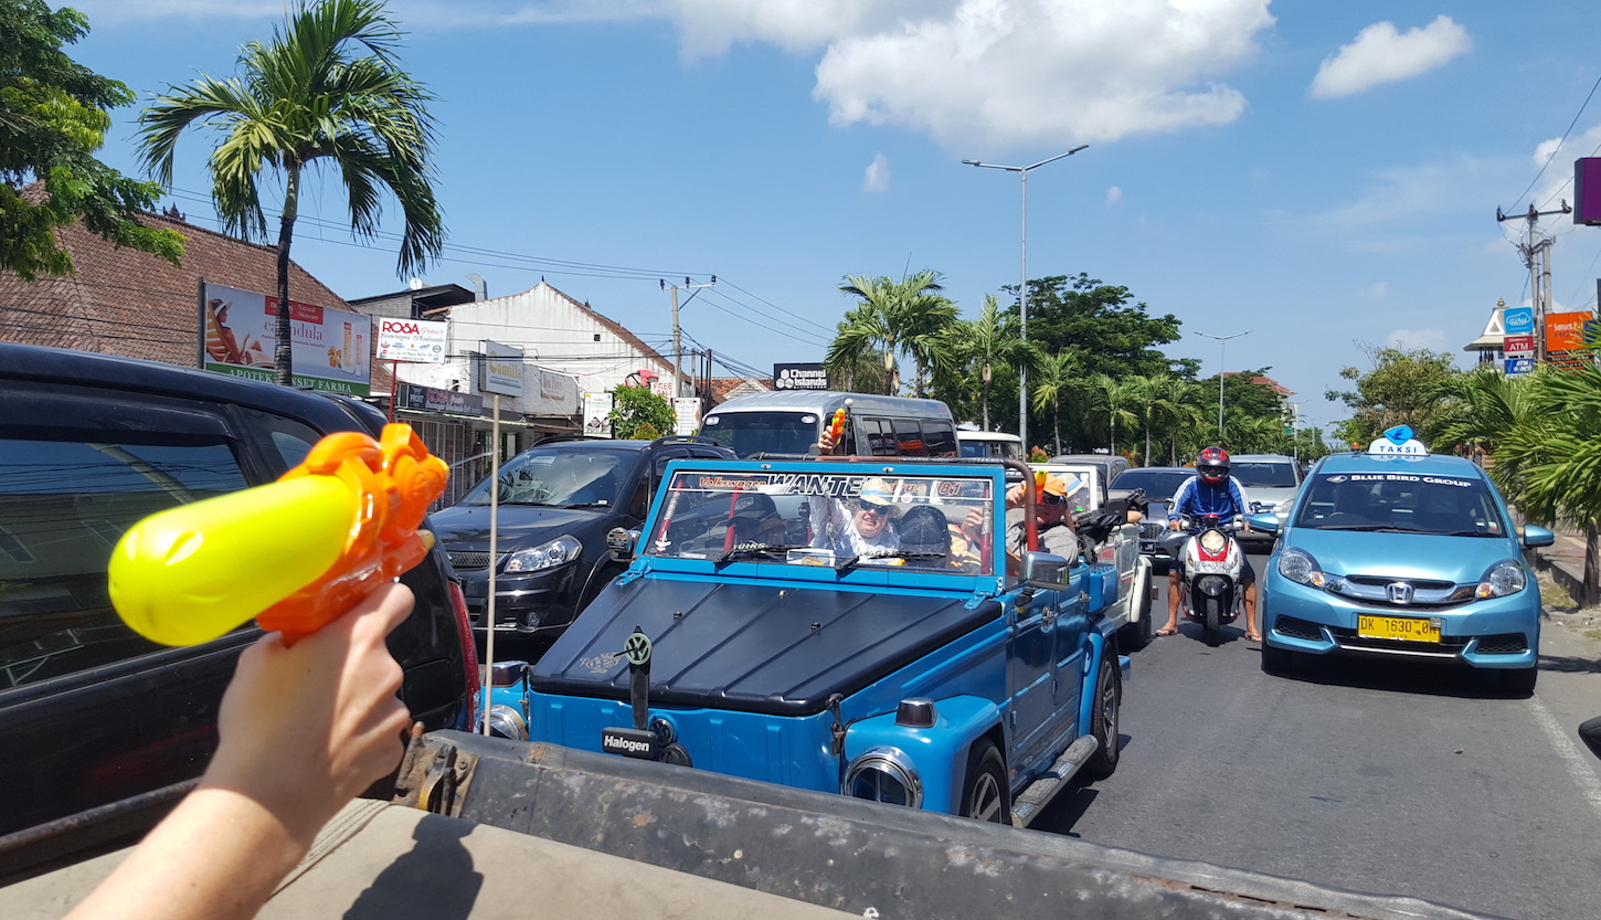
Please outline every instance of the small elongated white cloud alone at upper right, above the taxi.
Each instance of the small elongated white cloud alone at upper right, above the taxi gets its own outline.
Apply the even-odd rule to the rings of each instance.
[[[1443,67],[1473,46],[1468,30],[1439,16],[1428,26],[1396,32],[1391,22],[1374,22],[1342,45],[1338,54],[1324,58],[1311,82],[1314,99],[1354,96],[1382,83],[1410,80]]]

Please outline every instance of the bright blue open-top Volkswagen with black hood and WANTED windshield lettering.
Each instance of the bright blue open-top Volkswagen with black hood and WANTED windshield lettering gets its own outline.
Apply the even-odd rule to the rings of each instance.
[[[1009,473],[1031,506],[1001,460],[669,465],[528,672],[528,739],[1028,824],[1117,766],[1127,659],[1114,567],[1009,566]]]

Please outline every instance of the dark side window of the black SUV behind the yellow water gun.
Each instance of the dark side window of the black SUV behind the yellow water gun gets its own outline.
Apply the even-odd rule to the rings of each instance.
[[[248,486],[227,444],[183,441],[0,439],[0,689],[162,648],[110,607],[112,547],[147,514]]]

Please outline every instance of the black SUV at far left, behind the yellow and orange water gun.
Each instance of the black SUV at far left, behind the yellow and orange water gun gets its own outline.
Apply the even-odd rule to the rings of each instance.
[[[152,825],[205,769],[234,660],[261,635],[165,648],[133,633],[106,593],[123,531],[383,422],[349,397],[0,343],[0,878]],[[479,676],[448,563],[435,550],[402,580],[416,611],[389,636],[400,696],[429,729],[469,728]]]

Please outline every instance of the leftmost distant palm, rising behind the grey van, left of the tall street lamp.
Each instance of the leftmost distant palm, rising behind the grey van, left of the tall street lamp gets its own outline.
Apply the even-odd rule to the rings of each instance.
[[[927,370],[935,362],[948,361],[940,351],[941,332],[957,317],[956,305],[938,293],[945,290],[940,272],[924,269],[901,280],[847,274],[839,290],[861,298],[861,303],[845,314],[825,365],[833,370],[852,356],[879,349],[884,354],[884,386],[893,396],[900,393],[895,357],[905,349],[916,365],[916,391],[922,394]]]

